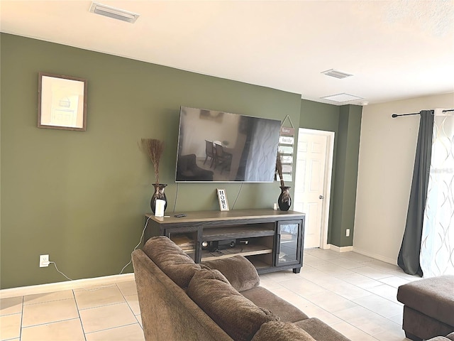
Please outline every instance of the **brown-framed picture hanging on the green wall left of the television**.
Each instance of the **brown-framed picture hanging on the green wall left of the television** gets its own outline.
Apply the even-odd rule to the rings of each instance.
[[[87,80],[38,74],[38,128],[87,130]]]

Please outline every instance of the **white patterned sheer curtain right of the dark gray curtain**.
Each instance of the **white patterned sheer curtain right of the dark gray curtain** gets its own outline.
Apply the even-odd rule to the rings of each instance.
[[[454,112],[435,110],[421,238],[424,277],[454,274]]]

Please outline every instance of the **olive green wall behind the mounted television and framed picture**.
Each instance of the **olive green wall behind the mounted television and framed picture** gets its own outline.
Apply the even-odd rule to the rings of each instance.
[[[327,126],[339,111],[299,94],[21,36],[1,33],[0,44],[1,288],[65,281],[52,265],[38,267],[40,254],[73,279],[121,271],[153,194],[141,138],[165,141],[167,213],[218,210],[219,184],[175,184],[181,105],[280,120],[288,114],[295,127],[301,107],[319,115],[304,117],[306,127]],[[87,131],[37,128],[38,72],[88,80]],[[235,209],[272,207],[279,195],[278,183],[222,187],[231,208],[239,193]]]

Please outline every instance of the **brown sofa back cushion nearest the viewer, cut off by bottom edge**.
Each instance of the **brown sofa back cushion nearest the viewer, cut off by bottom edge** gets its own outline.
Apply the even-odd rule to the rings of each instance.
[[[272,321],[263,323],[252,341],[316,341],[305,330],[293,323]]]

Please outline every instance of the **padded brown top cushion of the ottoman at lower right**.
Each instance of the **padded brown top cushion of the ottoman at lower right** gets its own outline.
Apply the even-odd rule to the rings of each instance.
[[[397,300],[424,315],[454,326],[454,276],[423,278],[399,286]]]

